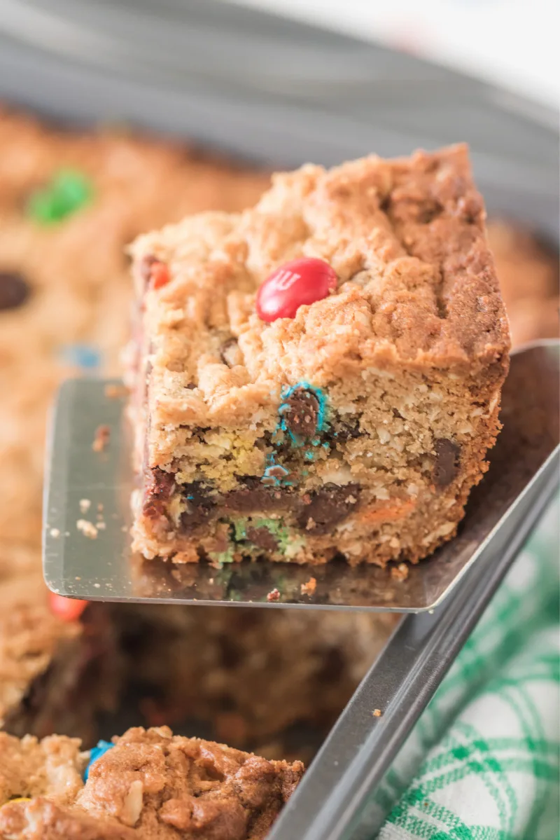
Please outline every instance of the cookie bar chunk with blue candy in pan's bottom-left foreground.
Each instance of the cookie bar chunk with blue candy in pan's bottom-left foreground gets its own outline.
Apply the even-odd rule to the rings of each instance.
[[[0,840],[262,840],[302,773],[168,727],[91,753],[0,732]]]

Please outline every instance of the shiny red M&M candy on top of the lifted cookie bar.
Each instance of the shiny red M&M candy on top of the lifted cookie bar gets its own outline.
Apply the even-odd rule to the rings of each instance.
[[[257,314],[271,323],[276,318],[294,318],[302,304],[315,303],[336,289],[336,271],[325,260],[301,257],[280,265],[257,292]]]

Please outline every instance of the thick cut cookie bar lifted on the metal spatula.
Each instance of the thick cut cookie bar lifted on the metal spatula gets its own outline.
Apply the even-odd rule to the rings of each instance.
[[[137,239],[136,549],[385,564],[451,538],[509,362],[484,217],[454,146],[306,165],[252,210]],[[264,323],[255,291],[301,256],[337,289]]]

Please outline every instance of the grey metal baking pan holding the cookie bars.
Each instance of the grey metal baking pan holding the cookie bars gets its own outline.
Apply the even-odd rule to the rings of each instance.
[[[2,7],[5,100],[71,123],[124,120],[277,167],[467,140],[489,213],[557,244],[557,114],[547,108],[410,55],[212,0]],[[479,559],[484,574],[467,575],[434,615],[400,622],[271,840],[373,835],[381,810],[369,807],[360,823],[371,790],[556,484],[547,465],[521,499],[515,532]]]

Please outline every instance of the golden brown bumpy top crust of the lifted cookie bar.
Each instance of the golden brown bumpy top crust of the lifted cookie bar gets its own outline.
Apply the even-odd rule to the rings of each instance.
[[[241,215],[187,218],[133,244],[150,361],[150,465],[164,424],[254,422],[280,386],[322,386],[371,366],[482,370],[509,349],[466,147],[369,157],[276,175]],[[170,268],[144,294],[142,260]],[[312,255],[338,290],[264,324],[254,291],[285,260]],[[220,345],[234,336],[243,361]],[[192,386],[196,386],[194,389]],[[188,386],[188,390],[187,390]]]

